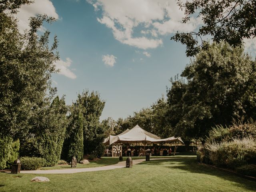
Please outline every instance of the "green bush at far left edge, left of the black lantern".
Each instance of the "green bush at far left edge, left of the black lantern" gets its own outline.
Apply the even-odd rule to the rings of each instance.
[[[10,158],[12,151],[12,138],[0,138],[0,170],[6,167],[6,162]]]

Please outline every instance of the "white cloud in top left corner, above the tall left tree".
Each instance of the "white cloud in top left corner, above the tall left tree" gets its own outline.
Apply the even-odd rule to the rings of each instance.
[[[21,31],[29,28],[29,18],[37,14],[47,14],[56,19],[59,18],[52,2],[50,0],[34,0],[34,3],[22,5],[16,17],[18,18],[18,26]],[[42,31],[45,28],[41,28]]]

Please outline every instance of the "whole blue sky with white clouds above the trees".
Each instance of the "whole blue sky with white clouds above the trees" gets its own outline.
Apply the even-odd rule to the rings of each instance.
[[[190,32],[198,18],[182,24],[174,0],[34,0],[22,6],[20,30],[28,18],[47,14],[57,19],[46,28],[58,36],[60,73],[52,77],[66,103],[84,89],[100,92],[106,101],[101,119],[126,118],[166,95],[169,79],[180,74],[189,58],[185,46],[170,40]],[[255,56],[256,41],[247,41]]]

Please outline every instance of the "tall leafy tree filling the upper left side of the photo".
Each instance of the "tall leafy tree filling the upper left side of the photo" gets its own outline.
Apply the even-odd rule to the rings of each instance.
[[[11,0],[0,4],[0,133],[20,138],[21,142],[30,132],[30,121],[36,118],[38,109],[56,92],[50,78],[59,59],[56,37],[50,46],[49,31],[37,34],[44,21],[52,22],[54,18],[30,18],[30,29],[20,33],[15,16],[7,13],[16,13],[28,2]]]

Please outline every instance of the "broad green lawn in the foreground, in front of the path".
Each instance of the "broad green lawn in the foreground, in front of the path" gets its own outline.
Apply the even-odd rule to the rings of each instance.
[[[35,176],[50,182],[34,183]],[[98,172],[74,174],[0,173],[0,191],[4,192],[244,192],[255,191],[256,182],[197,164],[195,156],[174,156]]]

